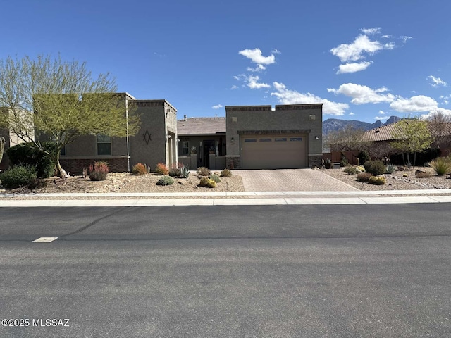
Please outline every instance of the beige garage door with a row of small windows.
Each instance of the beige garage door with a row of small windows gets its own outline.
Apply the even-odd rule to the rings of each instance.
[[[244,169],[307,167],[307,135],[246,135],[240,141]]]

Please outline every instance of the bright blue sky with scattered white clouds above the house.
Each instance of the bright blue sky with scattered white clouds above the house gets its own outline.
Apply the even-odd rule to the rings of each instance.
[[[183,115],[323,103],[323,119],[451,113],[451,1],[1,1],[0,58],[58,53]]]

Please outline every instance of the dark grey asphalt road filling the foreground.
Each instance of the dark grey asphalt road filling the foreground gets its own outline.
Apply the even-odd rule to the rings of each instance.
[[[450,204],[1,208],[0,319],[25,326],[0,337],[449,337],[450,216]]]

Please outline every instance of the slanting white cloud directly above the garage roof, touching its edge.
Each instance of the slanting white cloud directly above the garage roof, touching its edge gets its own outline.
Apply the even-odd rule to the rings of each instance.
[[[280,104],[323,104],[323,113],[330,115],[344,115],[349,108],[347,104],[321,99],[321,97],[310,93],[299,93],[295,90],[288,89],[285,84],[273,82],[276,92],[272,92],[271,96],[276,96]]]

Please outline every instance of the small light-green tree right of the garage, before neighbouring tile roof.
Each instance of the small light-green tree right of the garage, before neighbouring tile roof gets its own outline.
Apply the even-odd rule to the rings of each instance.
[[[409,161],[409,153],[414,154],[414,166],[416,153],[426,151],[433,142],[428,123],[418,118],[404,118],[396,123],[392,138],[394,139],[393,148],[402,151],[402,161],[404,161],[404,153],[407,154],[407,161]]]

